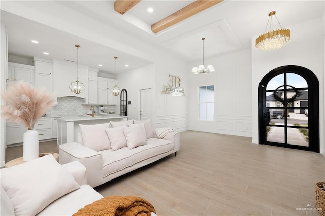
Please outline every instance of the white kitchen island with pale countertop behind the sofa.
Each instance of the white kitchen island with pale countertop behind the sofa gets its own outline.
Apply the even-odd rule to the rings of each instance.
[[[110,121],[126,121],[127,116],[119,115],[95,115],[91,116],[62,116],[57,120],[57,144],[76,142],[78,140],[78,132],[81,132],[79,124],[94,125],[109,123]]]

